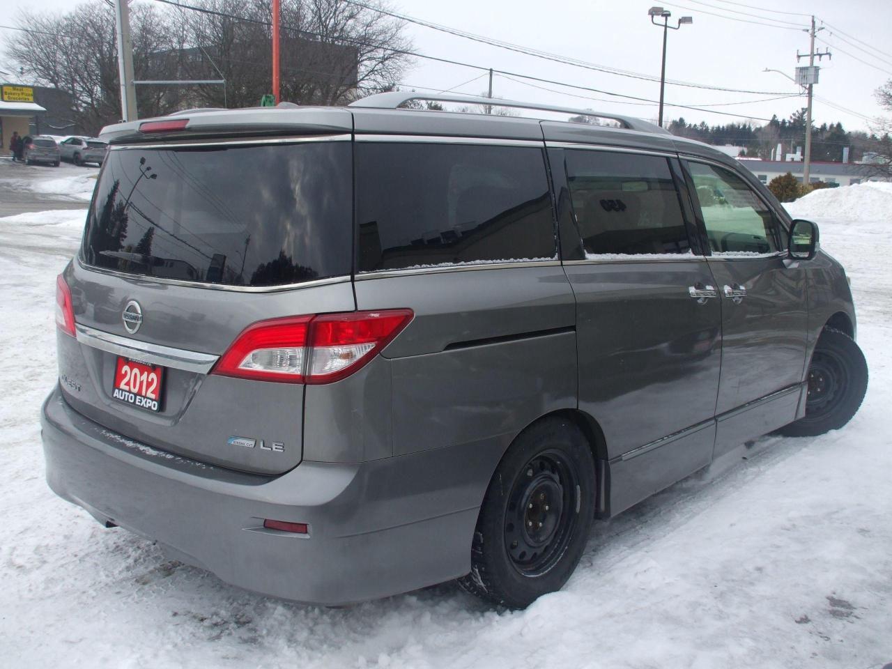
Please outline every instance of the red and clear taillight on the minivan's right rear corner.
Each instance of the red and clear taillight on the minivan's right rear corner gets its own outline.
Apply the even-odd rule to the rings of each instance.
[[[213,374],[289,384],[330,384],[362,368],[401,330],[412,310],[274,318],[248,326]]]

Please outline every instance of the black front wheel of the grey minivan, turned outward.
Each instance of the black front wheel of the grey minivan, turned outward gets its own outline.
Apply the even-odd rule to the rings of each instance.
[[[825,329],[808,366],[805,417],[780,428],[793,437],[838,430],[855,416],[867,392],[867,361],[850,336]]]

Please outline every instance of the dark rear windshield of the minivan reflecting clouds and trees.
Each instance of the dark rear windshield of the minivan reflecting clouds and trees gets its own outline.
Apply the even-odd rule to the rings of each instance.
[[[272,286],[351,273],[349,142],[108,154],[83,260],[127,274]]]

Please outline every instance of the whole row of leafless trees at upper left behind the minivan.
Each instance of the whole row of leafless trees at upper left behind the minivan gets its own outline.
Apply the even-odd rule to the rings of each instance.
[[[377,0],[369,0],[372,7]],[[256,105],[271,92],[268,0],[191,0],[199,10],[134,4],[131,32],[136,79],[216,79],[226,87],[139,86],[139,116],[191,106]],[[120,119],[115,17],[111,4],[88,0],[65,14],[23,12],[7,37],[6,60],[37,84],[73,98],[85,132]],[[283,0],[282,99],[338,104],[391,90],[411,59],[404,24],[343,0]]]

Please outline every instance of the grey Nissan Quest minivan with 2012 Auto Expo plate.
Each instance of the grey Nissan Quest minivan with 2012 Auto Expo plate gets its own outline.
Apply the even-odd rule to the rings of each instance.
[[[846,273],[736,161],[628,117],[418,97],[491,103],[103,130],[57,283],[54,491],[252,591],[458,578],[524,607],[595,517],[855,414]]]

